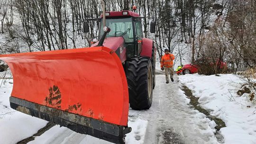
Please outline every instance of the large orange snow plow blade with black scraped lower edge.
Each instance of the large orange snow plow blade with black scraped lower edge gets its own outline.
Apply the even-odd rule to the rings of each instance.
[[[13,74],[10,106],[73,131],[123,144],[128,85],[107,47],[4,54]]]

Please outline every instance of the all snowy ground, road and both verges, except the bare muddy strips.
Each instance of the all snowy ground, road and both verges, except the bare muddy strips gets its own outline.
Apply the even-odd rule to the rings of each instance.
[[[126,144],[163,144],[166,142],[163,135],[170,131],[177,134],[181,144],[218,144],[214,135],[215,122],[188,105],[189,99],[181,90],[182,85],[200,98],[200,105],[210,110],[211,115],[226,123],[227,127],[220,129],[225,144],[256,144],[256,106],[250,104],[246,96],[236,95],[234,89],[241,87],[241,80],[236,75],[175,75],[174,80],[174,83],[166,84],[164,74],[156,75],[152,107],[145,111],[129,110],[128,126],[132,127],[132,132],[127,135]],[[12,83],[12,80],[6,80],[0,87],[0,144],[16,144],[37,133],[47,123],[9,107]],[[54,126],[28,144],[110,143]]]

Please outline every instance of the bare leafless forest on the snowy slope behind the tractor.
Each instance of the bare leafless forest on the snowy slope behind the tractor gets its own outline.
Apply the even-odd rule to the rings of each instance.
[[[143,19],[144,37],[159,57],[168,48],[176,63],[225,61],[230,71],[256,65],[256,0],[104,0],[106,11],[133,10]],[[98,0],[0,0],[0,53],[48,51],[90,46],[99,23]],[[155,34],[149,31],[156,23]],[[217,68],[218,69],[218,68]],[[219,70],[218,70],[219,71]],[[217,72],[217,70],[216,70]]]

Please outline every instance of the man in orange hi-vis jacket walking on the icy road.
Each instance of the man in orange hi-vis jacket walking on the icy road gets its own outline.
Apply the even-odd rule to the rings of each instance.
[[[161,70],[164,71],[165,70],[165,80],[166,83],[169,83],[169,72],[171,73],[171,80],[174,81],[174,69],[173,69],[173,65],[174,65],[174,54],[170,54],[168,49],[165,49],[165,55],[162,56],[162,60],[161,60]],[[165,68],[164,68],[165,67]]]

